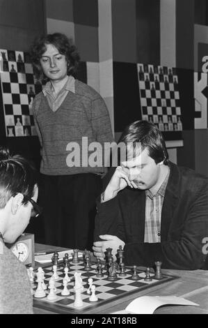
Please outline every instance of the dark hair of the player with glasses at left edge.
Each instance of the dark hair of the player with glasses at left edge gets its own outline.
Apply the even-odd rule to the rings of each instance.
[[[23,204],[33,197],[38,184],[38,174],[24,157],[11,155],[8,149],[0,148],[0,208],[6,206],[10,197],[22,193]]]

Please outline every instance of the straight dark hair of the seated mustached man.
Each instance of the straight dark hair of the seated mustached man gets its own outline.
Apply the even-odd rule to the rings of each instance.
[[[137,156],[145,148],[148,149],[149,156],[154,159],[155,163],[163,163],[168,165],[168,151],[166,149],[166,143],[163,139],[161,131],[153,123],[148,121],[135,121],[129,124],[123,131],[119,142],[125,144],[132,143],[133,156]],[[140,149],[138,149],[138,143],[140,142]],[[139,154],[138,154],[139,151]],[[128,156],[128,154],[127,154]]]

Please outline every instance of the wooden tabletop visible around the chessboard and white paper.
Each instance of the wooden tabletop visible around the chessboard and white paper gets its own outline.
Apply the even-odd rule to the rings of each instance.
[[[40,251],[64,251],[66,248],[46,246],[43,244],[35,244],[35,252]],[[40,264],[37,264],[40,266]],[[99,308],[99,314],[109,314],[115,311],[121,311],[135,299],[136,297],[148,295],[148,296],[180,296],[189,301],[193,301],[199,306],[163,306],[158,308],[155,314],[208,314],[208,271],[205,270],[170,270],[163,269],[165,274],[179,276],[178,279],[170,281],[161,285],[159,289],[140,291],[131,295],[128,299],[122,299],[119,302],[111,302],[105,304]],[[34,308],[34,313],[38,314],[51,314],[51,311],[46,311],[41,308]],[[93,313],[94,314],[94,313]]]

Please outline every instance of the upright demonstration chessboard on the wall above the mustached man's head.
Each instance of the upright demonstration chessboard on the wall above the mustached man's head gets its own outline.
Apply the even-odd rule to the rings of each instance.
[[[142,118],[160,131],[182,131],[178,77],[175,68],[137,64]]]

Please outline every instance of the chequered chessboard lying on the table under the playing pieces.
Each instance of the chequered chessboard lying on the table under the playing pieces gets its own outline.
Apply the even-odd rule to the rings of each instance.
[[[131,268],[126,268],[126,276],[124,278],[115,279],[115,281],[109,281],[108,276],[106,274],[106,270],[103,270],[104,276],[102,278],[97,278],[97,265],[91,265],[90,271],[84,270],[83,262],[79,262],[79,264],[72,264],[70,262],[70,269],[68,276],[70,278],[70,282],[67,285],[68,290],[70,290],[70,295],[63,296],[61,295],[61,290],[63,290],[63,278],[65,276],[63,271],[63,264],[59,264],[57,274],[58,279],[56,280],[56,296],[57,298],[54,301],[49,301],[47,299],[47,295],[49,290],[46,290],[46,297],[43,298],[35,298],[33,297],[33,305],[38,308],[44,308],[56,312],[56,313],[85,313],[85,311],[90,310],[90,313],[93,313],[93,308],[98,308],[106,303],[111,301],[115,301],[122,297],[131,295],[132,293],[139,292],[140,290],[149,289],[154,285],[161,285],[162,283],[166,283],[168,281],[172,281],[177,278],[176,276],[170,276],[163,274],[163,278],[157,280],[154,278],[154,272],[150,273],[152,277],[152,281],[146,282],[145,272],[138,271],[139,280],[134,281],[131,279],[133,274],[133,270]],[[53,270],[51,265],[47,267],[43,267],[45,271],[45,284],[48,286],[49,279],[53,275]],[[81,308],[74,307],[74,273],[81,273],[82,281],[83,281],[83,292],[81,293],[81,298],[83,300],[83,306]],[[89,301],[90,295],[88,295],[88,278],[93,278],[93,285],[95,285],[95,295],[98,297],[98,301],[91,302]],[[37,288],[37,283],[33,283],[33,290]]]

